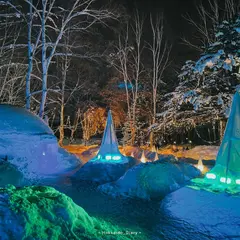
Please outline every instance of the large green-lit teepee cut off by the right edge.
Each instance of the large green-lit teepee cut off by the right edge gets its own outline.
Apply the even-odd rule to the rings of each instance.
[[[230,116],[214,168],[206,174],[217,183],[240,184],[240,94],[233,97]]]

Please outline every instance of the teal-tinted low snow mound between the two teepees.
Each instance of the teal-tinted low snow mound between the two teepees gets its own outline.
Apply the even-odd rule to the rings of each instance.
[[[118,181],[104,184],[98,189],[114,197],[159,200],[198,175],[200,171],[187,163],[158,160],[139,164],[129,169]]]

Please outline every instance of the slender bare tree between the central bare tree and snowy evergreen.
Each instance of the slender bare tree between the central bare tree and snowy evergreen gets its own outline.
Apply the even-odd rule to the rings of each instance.
[[[163,81],[163,74],[166,68],[169,66],[169,55],[171,52],[171,46],[164,38],[164,22],[163,14],[158,15],[156,20],[153,20],[150,16],[150,23],[152,29],[152,42],[148,43],[149,50],[152,55],[152,121],[151,125],[156,123],[157,114],[157,101],[159,85],[166,85]],[[154,132],[150,133],[150,146],[154,144]]]

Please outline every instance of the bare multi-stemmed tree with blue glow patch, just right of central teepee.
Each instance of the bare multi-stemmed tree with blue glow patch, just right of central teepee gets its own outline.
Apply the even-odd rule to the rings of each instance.
[[[114,68],[123,77],[126,103],[127,103],[127,121],[131,131],[130,143],[134,144],[136,138],[136,111],[138,103],[138,91],[143,73],[142,65],[142,50],[143,40],[143,23],[144,20],[136,12],[133,18],[133,23],[126,24],[124,33],[118,37],[118,45],[116,48],[116,54],[113,54],[114,60],[112,64]],[[131,42],[131,34],[133,35],[133,41]]]

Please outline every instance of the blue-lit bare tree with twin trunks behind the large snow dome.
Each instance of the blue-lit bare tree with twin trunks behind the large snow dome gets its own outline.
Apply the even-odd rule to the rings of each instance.
[[[67,31],[87,31],[94,23],[104,23],[105,19],[116,19],[117,16],[106,9],[94,9],[93,0],[76,0],[69,9],[58,6],[56,0],[41,0],[38,5],[34,5],[32,0],[24,1],[29,5],[27,15],[28,73],[26,77],[26,107],[30,109],[30,100],[33,95],[41,93],[39,116],[43,117],[48,92],[48,70],[53,58],[62,55],[82,57],[72,52],[62,53],[59,51],[65,33]],[[31,92],[30,82],[31,77],[33,77],[33,62],[37,61],[36,56],[39,51],[41,52],[42,89]]]

